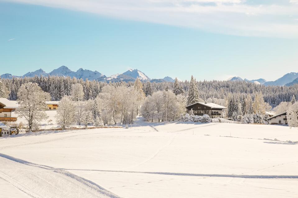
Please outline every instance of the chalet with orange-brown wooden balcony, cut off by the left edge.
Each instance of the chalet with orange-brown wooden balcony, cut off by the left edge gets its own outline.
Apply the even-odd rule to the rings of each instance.
[[[0,98],[0,121],[1,122],[15,122],[16,117],[11,117],[11,112],[18,108],[17,101],[11,101],[6,98]]]

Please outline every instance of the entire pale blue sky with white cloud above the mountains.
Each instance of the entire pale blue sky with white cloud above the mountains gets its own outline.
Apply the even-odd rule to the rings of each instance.
[[[276,80],[298,72],[298,0],[0,0],[0,68]]]

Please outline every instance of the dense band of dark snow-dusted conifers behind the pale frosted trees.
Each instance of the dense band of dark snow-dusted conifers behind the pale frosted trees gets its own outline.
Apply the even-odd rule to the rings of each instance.
[[[17,99],[17,92],[22,84],[27,82],[37,83],[44,92],[50,94],[51,100],[58,101],[61,100],[63,96],[71,95],[71,87],[73,84],[80,83],[83,86],[84,100],[95,99],[99,93],[102,92],[102,87],[105,85],[110,85],[112,87],[133,86],[134,82],[98,82],[89,81],[70,77],[33,77],[33,78],[12,78],[12,79],[1,79],[3,86],[1,88],[2,97],[5,96],[10,100]],[[175,82],[142,82],[143,91],[146,96],[152,95],[153,92],[163,91],[166,89],[172,90],[175,93]],[[178,86],[185,96],[187,96],[189,90],[190,81],[179,82]],[[270,106],[275,107],[282,101],[291,101],[294,95],[298,99],[298,84],[291,87],[285,86],[264,86],[258,85],[251,82],[242,81],[200,81],[196,82],[199,92],[199,98],[203,101],[215,100],[215,99],[225,99],[227,101],[228,94],[250,94],[254,100],[255,93],[262,92],[264,101],[269,103]],[[177,86],[176,86],[177,88]],[[181,92],[178,90],[178,92]],[[181,94],[181,93],[179,93]]]

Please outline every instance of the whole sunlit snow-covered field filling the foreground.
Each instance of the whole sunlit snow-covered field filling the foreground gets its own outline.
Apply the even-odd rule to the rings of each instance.
[[[19,134],[0,138],[0,197],[298,197],[294,141],[286,126],[141,120]]]

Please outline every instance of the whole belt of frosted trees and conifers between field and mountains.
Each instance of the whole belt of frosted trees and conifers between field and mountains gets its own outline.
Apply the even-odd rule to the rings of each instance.
[[[266,111],[289,111],[288,116],[291,116],[296,115],[298,109],[298,85],[265,87],[240,81],[197,82],[193,76],[190,81],[179,82],[176,78],[172,83],[141,82],[139,78],[135,82],[106,83],[35,76],[2,79],[0,90],[0,97],[20,102],[24,108],[17,112],[24,117],[44,111],[47,100],[61,101],[56,119],[62,128],[73,123],[86,127],[89,123],[95,126],[132,124],[138,115],[151,122],[177,120],[186,113],[187,105],[203,101],[226,106],[227,117],[245,124],[268,124]],[[38,92],[35,95],[40,97],[30,95],[34,90]],[[26,108],[32,103],[26,98],[32,97],[39,98],[37,104],[40,106],[34,107],[38,110],[36,112]],[[297,120],[298,116],[294,118]],[[36,122],[46,119],[46,115],[35,116],[34,119],[27,119],[30,130]],[[296,126],[292,122],[289,122],[290,125]]]

